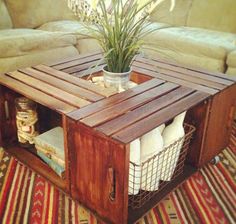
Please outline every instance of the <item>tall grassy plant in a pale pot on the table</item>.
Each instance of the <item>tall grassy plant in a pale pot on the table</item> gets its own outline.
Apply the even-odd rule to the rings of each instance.
[[[127,89],[132,61],[143,37],[153,32],[148,20],[150,12],[162,1],[93,0],[82,10],[77,7],[76,14],[88,31],[86,36],[96,39],[104,52],[105,86]]]

